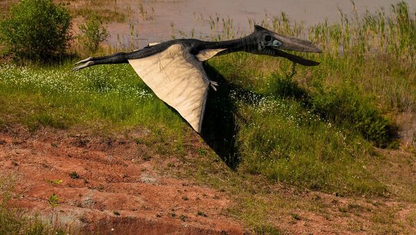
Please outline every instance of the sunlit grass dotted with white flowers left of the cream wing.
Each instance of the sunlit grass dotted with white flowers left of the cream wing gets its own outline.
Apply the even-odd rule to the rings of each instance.
[[[74,73],[70,64],[59,68],[3,64],[0,92],[4,118],[17,119],[32,128],[67,128],[92,120],[103,126],[141,125],[172,132],[184,126],[130,66],[116,67]]]

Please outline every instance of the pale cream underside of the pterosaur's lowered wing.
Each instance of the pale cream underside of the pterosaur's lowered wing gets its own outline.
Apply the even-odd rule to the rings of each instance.
[[[204,71],[186,60],[181,44],[173,44],[161,53],[128,62],[157,97],[200,132],[209,80],[204,79]]]

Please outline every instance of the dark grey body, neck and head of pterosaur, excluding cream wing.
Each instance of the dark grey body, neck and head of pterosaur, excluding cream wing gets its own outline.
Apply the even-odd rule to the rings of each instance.
[[[320,64],[312,60],[306,60],[297,55],[291,55],[284,51],[280,50],[290,50],[290,51],[302,51],[302,52],[313,52],[321,53],[320,49],[315,47],[311,42],[307,40],[300,40],[293,37],[286,37],[284,35],[279,35],[272,31],[268,31],[266,28],[261,26],[254,26],[254,32],[246,37],[242,37],[236,40],[229,40],[223,42],[204,42],[194,39],[180,39],[180,40],[171,40],[168,42],[162,42],[154,46],[146,46],[141,50],[133,51],[130,53],[116,53],[114,55],[107,55],[103,57],[90,57],[85,60],[81,60],[76,64],[85,63],[78,67],[75,67],[73,71],[79,69],[84,69],[86,67],[96,65],[96,64],[121,64],[128,63],[128,60],[135,60],[140,58],[146,58],[150,55],[155,55],[159,52],[162,52],[168,49],[169,46],[173,44],[182,44],[184,46],[184,56],[187,58],[191,64],[193,64],[198,69],[203,69],[202,62],[196,58],[196,55],[200,51],[206,49],[225,49],[216,55],[225,55],[227,53],[232,53],[236,51],[245,51],[248,53],[254,53],[259,55],[270,55],[270,56],[279,56],[291,60],[297,64],[302,64],[304,66],[315,66]],[[216,85],[216,82],[212,82]],[[212,85],[212,84],[211,84]],[[215,89],[215,87],[213,86]]]

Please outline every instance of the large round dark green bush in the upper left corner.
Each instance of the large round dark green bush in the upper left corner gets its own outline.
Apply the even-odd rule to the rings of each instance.
[[[46,62],[64,55],[71,16],[52,0],[21,0],[0,21],[0,42],[8,55]]]

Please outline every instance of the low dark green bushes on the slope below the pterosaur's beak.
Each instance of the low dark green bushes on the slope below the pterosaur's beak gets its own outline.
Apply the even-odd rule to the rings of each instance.
[[[290,77],[272,74],[271,78],[268,94],[293,98],[323,119],[356,130],[377,147],[397,147],[397,127],[381,114],[370,98],[360,95],[358,87],[345,83],[327,91],[315,80],[309,92]]]

